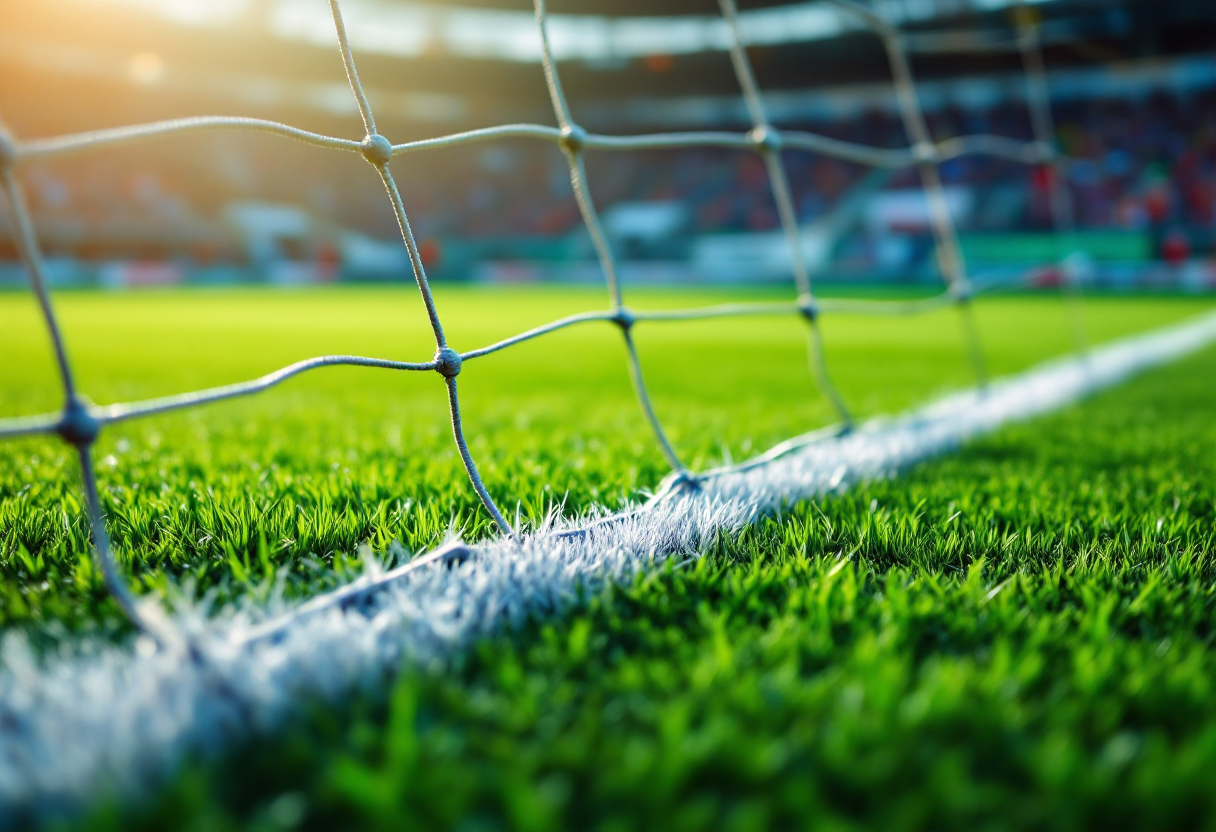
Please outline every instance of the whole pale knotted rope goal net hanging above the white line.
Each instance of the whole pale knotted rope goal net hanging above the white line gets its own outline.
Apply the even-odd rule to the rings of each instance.
[[[540,338],[559,330],[581,326],[590,322],[608,322],[620,330],[625,345],[630,377],[634,383],[638,405],[655,435],[664,459],[672,470],[672,474],[668,477],[660,494],[674,494],[674,489],[679,489],[680,487],[689,483],[696,484],[698,477],[714,477],[724,471],[734,468],[744,470],[745,466],[762,463],[764,460],[769,459],[773,454],[784,454],[792,448],[799,448],[809,442],[815,442],[821,437],[839,433],[840,426],[790,439],[789,442],[783,443],[783,445],[779,445],[770,451],[767,455],[744,462],[741,466],[715,468],[713,471],[703,472],[702,474],[693,474],[681,463],[680,457],[668,439],[651,403],[644,375],[642,372],[642,365],[634,343],[634,328],[637,324],[696,321],[762,315],[796,315],[810,324],[809,332],[811,341],[809,349],[811,369],[816,375],[817,383],[824,395],[835,406],[841,417],[841,426],[848,426],[849,411],[844,405],[843,398],[840,398],[839,393],[832,384],[831,376],[828,375],[822,339],[818,336],[818,316],[823,313],[914,315],[940,309],[950,304],[956,304],[961,308],[963,314],[964,336],[968,342],[972,362],[976,370],[976,375],[983,380],[986,372],[983,364],[983,352],[978,337],[979,332],[975,326],[973,313],[970,311],[970,300],[973,297],[987,291],[1020,288],[1028,286],[1029,282],[1025,275],[1023,275],[1013,280],[995,280],[986,285],[980,285],[978,281],[973,282],[972,279],[967,276],[966,266],[962,260],[961,247],[958,244],[957,230],[955,229],[953,221],[950,217],[948,204],[945,199],[945,192],[941,186],[938,165],[946,159],[966,154],[995,156],[1028,165],[1049,163],[1057,172],[1066,165],[1066,159],[1064,154],[1059,152],[1054,141],[1054,127],[1051,122],[1049,99],[1047,96],[1046,69],[1041,52],[1041,45],[1043,41],[1040,36],[1037,26],[1034,19],[1029,17],[1020,17],[1018,18],[1019,30],[1017,38],[1008,40],[1008,43],[993,41],[995,45],[993,43],[989,44],[989,46],[993,49],[1017,49],[1021,51],[1028,78],[1028,96],[1032,111],[1035,141],[1026,142],[996,135],[970,135],[934,144],[928,133],[928,125],[924,119],[924,113],[921,109],[911,68],[907,62],[907,51],[902,40],[906,35],[871,10],[858,6],[850,0],[824,0],[824,2],[857,16],[865,26],[872,29],[883,40],[891,63],[900,112],[903,118],[908,137],[912,141],[911,147],[871,147],[867,145],[841,141],[801,130],[783,130],[778,134],[767,120],[760,89],[755,83],[755,77],[747,56],[745,45],[739,34],[738,12],[734,0],[719,0],[719,5],[731,33],[731,60],[741,84],[743,99],[751,122],[751,129],[743,134],[710,130],[669,131],[643,135],[601,135],[584,130],[573,119],[569,102],[562,89],[561,77],[548,43],[548,17],[545,0],[534,0],[534,10],[542,47],[541,64],[544,67],[546,85],[553,105],[553,113],[558,122],[557,128],[542,124],[503,124],[475,130],[466,130],[435,139],[426,139],[399,145],[392,144],[387,137],[377,131],[375,112],[359,79],[354,52],[350,49],[338,0],[328,0],[328,4],[333,15],[334,32],[347,80],[351,94],[355,97],[360,119],[365,129],[365,135],[359,141],[327,136],[268,119],[223,116],[170,119],[150,124],[92,130],[47,139],[33,139],[28,141],[18,141],[4,128],[2,124],[0,124],[0,191],[4,192],[4,197],[10,207],[10,214],[13,218],[12,226],[17,253],[24,266],[30,289],[38,300],[40,315],[51,341],[57,376],[64,395],[63,409],[58,412],[44,414],[39,416],[0,418],[0,439],[57,434],[74,448],[81,477],[85,513],[91,530],[94,556],[107,590],[113,596],[116,603],[123,613],[140,631],[152,636],[161,643],[173,643],[179,641],[179,635],[176,634],[175,628],[171,625],[169,618],[164,614],[161,606],[154,600],[139,597],[131,591],[130,585],[125,580],[119,567],[118,560],[114,556],[109,536],[106,530],[106,519],[102,511],[100,493],[97,489],[97,477],[92,462],[92,445],[96,442],[98,433],[108,425],[167,414],[187,407],[202,406],[238,397],[255,395],[269,390],[288,378],[321,367],[361,366],[396,371],[438,372],[444,378],[451,417],[452,438],[460,452],[461,462],[468,479],[473,485],[483,507],[494,519],[502,534],[507,538],[513,538],[514,529],[506,521],[502,512],[495,504],[478,471],[472,452],[469,451],[468,443],[465,437],[456,378],[466,361],[510,349],[511,347],[522,344],[534,338]],[[934,43],[933,39],[925,33],[918,34],[917,38],[919,39],[919,50],[923,50],[927,45],[933,45]],[[963,41],[961,36],[955,36],[952,33],[947,33],[946,35],[939,38],[938,43],[944,45],[946,49],[957,50],[961,49],[961,44]],[[72,372],[72,361],[68,355],[63,332],[55,313],[55,305],[51,300],[39,238],[16,172],[29,162],[54,159],[77,153],[97,152],[139,141],[151,141],[168,137],[180,133],[203,133],[213,130],[266,133],[283,139],[304,142],[322,150],[355,152],[360,153],[376,169],[384,186],[385,193],[388,195],[394,217],[398,221],[401,240],[410,258],[415,282],[417,283],[418,292],[423,299],[427,317],[434,335],[437,349],[434,356],[429,361],[410,362],[356,355],[322,355],[297,361],[252,381],[238,382],[204,390],[192,390],[142,401],[128,401],[97,406],[92,405],[80,395]],[[587,234],[591,237],[599,265],[604,272],[604,282],[608,288],[610,305],[607,310],[593,310],[569,315],[488,347],[460,353],[447,344],[439,310],[430,289],[422,258],[418,253],[413,232],[410,227],[410,221],[404,207],[400,190],[398,189],[396,181],[389,170],[389,163],[394,156],[511,137],[547,141],[557,145],[564,153],[570,170],[570,184],[574,198],[578,203]],[[762,156],[769,173],[773,199],[782,223],[782,230],[789,247],[790,270],[794,277],[795,288],[799,292],[796,302],[736,303],[662,310],[631,310],[625,305],[617,260],[613,255],[608,237],[604,234],[598,210],[591,197],[586,168],[584,164],[584,154],[587,150],[623,152],[688,147],[742,150],[758,152]],[[933,225],[935,240],[938,242],[939,262],[942,269],[942,276],[947,283],[946,291],[927,298],[894,302],[815,298],[812,293],[814,286],[811,276],[806,270],[806,263],[803,255],[801,238],[793,207],[788,174],[781,158],[782,150],[822,153],[833,158],[876,168],[917,167],[922,174],[922,189],[929,201],[934,220]],[[1059,252],[1063,253],[1064,251],[1075,251],[1075,240],[1071,238],[1071,204],[1068,202],[1068,192],[1064,190],[1058,175],[1053,178],[1052,199],[1055,232],[1059,237],[1069,237],[1068,241],[1060,238]],[[1073,298],[1073,303],[1076,309],[1076,314],[1073,316],[1074,335],[1077,338],[1079,349],[1083,349],[1085,335],[1083,328],[1081,328],[1083,324],[1080,317],[1080,294],[1076,291],[1076,281],[1073,279],[1068,269],[1064,269],[1064,274],[1068,275],[1068,285],[1065,288],[1069,289],[1069,294]],[[423,560],[429,563],[438,562],[444,558]],[[421,564],[422,563],[420,562],[417,566]]]

